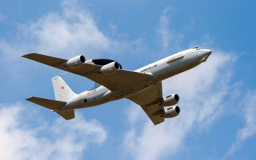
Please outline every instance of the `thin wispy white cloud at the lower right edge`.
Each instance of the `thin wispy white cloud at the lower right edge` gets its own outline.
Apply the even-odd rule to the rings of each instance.
[[[242,143],[248,138],[256,134],[256,92],[248,92],[244,103],[240,106],[244,113],[245,126],[241,128],[236,135],[236,142],[234,142],[229,149],[228,153],[224,156],[224,159],[228,155],[234,154],[236,150],[241,148]]]

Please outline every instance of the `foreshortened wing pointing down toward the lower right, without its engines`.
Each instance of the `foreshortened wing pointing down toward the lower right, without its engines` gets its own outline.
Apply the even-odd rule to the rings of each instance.
[[[164,117],[154,116],[164,109],[164,106],[159,105],[163,98],[162,82],[126,98],[140,105],[154,125],[164,122]]]

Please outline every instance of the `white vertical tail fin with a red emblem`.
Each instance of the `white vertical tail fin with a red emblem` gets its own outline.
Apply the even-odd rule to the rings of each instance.
[[[77,95],[68,87],[68,85],[63,81],[60,76],[55,76],[52,78],[52,85],[55,100],[67,101]]]

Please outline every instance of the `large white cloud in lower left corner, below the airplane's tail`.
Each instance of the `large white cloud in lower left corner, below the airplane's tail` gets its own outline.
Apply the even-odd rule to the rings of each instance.
[[[0,104],[0,159],[80,159],[88,145],[107,138],[97,120],[86,121],[79,113],[52,124],[36,115],[20,103]]]

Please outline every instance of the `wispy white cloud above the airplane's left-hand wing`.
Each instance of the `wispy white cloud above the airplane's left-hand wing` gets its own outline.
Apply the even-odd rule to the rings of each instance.
[[[37,21],[19,24],[15,40],[0,40],[0,51],[10,59],[30,52],[61,58],[80,54],[95,58],[102,52],[120,54],[120,50],[133,44],[111,40],[106,36],[108,33],[99,30],[92,14],[77,1],[64,0],[61,7],[62,12],[50,12]]]

